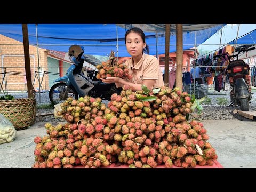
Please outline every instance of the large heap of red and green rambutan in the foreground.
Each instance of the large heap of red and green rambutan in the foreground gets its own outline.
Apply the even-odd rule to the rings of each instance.
[[[108,106],[100,98],[68,98],[59,112],[67,123],[47,123],[49,135],[35,138],[33,167],[213,165],[218,157],[206,129],[186,120],[191,105],[186,92],[164,86],[145,93],[125,85]]]

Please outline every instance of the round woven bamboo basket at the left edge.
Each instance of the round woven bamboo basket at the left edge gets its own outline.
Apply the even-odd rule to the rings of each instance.
[[[0,113],[13,124],[16,130],[33,125],[36,118],[34,99],[0,100]]]

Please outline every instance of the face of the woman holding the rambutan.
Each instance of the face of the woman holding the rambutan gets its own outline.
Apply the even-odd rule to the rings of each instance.
[[[126,36],[126,49],[132,57],[141,55],[145,47],[146,43],[143,43],[139,34],[131,32]]]

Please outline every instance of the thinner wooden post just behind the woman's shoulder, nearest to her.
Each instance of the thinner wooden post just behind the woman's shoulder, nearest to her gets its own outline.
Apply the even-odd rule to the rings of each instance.
[[[165,25],[164,86],[169,87],[170,24]]]

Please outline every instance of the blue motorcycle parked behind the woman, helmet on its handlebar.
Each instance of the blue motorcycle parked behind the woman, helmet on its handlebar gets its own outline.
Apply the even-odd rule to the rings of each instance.
[[[94,66],[101,64],[100,60],[95,62],[96,58],[93,58],[91,62],[92,57],[90,55],[86,57],[83,53],[83,46],[72,45],[69,47],[68,54],[73,64],[67,70],[66,76],[53,81],[59,82],[54,84],[49,91],[49,98],[53,105],[65,101],[68,97],[78,99],[85,95],[110,100],[111,95],[116,92],[115,83],[107,84],[95,78],[98,71],[87,69],[83,71],[84,61]]]

